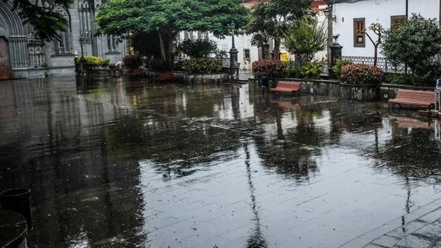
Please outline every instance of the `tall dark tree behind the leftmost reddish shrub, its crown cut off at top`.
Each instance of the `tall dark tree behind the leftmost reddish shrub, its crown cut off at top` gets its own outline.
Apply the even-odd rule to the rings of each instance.
[[[258,2],[251,10],[246,33],[253,35],[251,43],[262,46],[274,40],[275,59],[280,59],[283,31],[309,10],[311,0],[269,0]]]

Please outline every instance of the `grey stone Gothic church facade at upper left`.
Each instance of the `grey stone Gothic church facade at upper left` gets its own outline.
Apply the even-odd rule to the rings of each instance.
[[[75,0],[68,10],[54,6],[53,0],[30,0],[37,5],[52,8],[69,22],[70,27],[60,32],[61,39],[44,43],[34,36],[33,28],[23,24],[12,3],[0,3],[0,79],[35,78],[55,75],[74,75],[74,59],[81,56],[80,38],[84,55],[122,61],[129,48],[125,41],[115,37],[95,36],[94,9],[101,0]],[[90,6],[94,2],[95,6]]]

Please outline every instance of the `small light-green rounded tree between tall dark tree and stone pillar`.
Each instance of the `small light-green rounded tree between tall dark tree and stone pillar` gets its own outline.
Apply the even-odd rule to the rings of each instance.
[[[319,23],[317,18],[305,15],[293,21],[288,29],[283,31],[283,44],[303,66],[310,63],[316,53],[326,50],[327,36],[324,22]]]

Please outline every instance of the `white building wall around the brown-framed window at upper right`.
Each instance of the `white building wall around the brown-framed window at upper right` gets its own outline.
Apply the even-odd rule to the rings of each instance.
[[[390,28],[390,17],[406,14],[405,0],[361,0],[354,3],[336,3],[334,5],[333,33],[340,34],[338,42],[343,46],[343,56],[373,57],[374,48],[366,37],[366,47],[354,47],[354,18],[365,18],[366,28],[372,23],[381,23]],[[439,0],[409,0],[409,16],[411,13],[421,14],[424,18],[439,18]],[[372,32],[371,32],[372,33]],[[372,33],[372,38],[375,35]],[[379,51],[381,56],[381,51]]]

